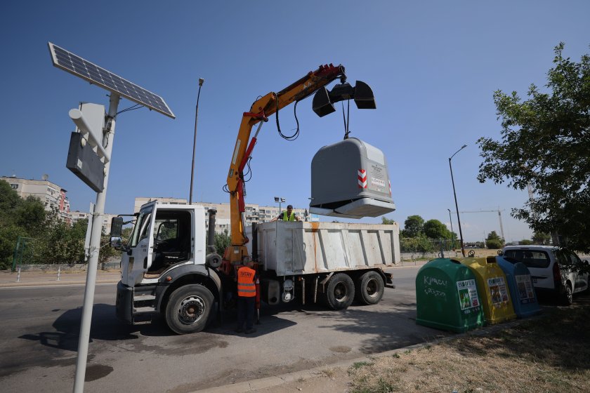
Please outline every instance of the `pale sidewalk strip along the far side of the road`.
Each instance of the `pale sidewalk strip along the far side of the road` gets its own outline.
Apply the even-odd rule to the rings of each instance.
[[[119,279],[121,279],[121,273],[118,269],[98,270],[96,274],[96,284],[117,284]],[[18,272],[11,272],[10,270],[0,271],[0,288],[72,284],[86,284],[86,271],[60,272],[59,281],[58,272],[23,270],[20,272],[19,279]]]

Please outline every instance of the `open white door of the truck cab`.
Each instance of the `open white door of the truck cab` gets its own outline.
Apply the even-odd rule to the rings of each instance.
[[[155,203],[143,206],[139,212],[136,225],[131,234],[129,251],[126,258],[129,259],[123,275],[127,275],[127,285],[134,286],[143,280],[143,274],[150,267],[154,248],[152,228],[155,220]]]

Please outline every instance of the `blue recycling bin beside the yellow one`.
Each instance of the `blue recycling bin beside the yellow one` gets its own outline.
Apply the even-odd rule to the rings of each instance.
[[[506,274],[516,316],[527,318],[539,314],[541,307],[539,307],[537,293],[535,293],[535,287],[532,286],[532,279],[526,265],[516,261],[513,263],[502,256],[497,256],[496,262]]]

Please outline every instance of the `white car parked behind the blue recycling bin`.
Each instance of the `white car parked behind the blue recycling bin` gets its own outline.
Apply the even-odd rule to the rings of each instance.
[[[506,246],[502,252],[509,262],[523,262],[528,267],[537,292],[549,291],[564,305],[572,304],[574,293],[588,289],[589,274],[577,272],[577,268],[589,262],[567,248]]]

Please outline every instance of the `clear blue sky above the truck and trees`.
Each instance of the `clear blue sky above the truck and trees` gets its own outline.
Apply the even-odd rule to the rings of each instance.
[[[502,211],[506,239],[530,237],[509,216],[526,192],[480,184],[476,140],[499,138],[492,94],[543,86],[553,47],[574,60],[589,52],[587,1],[3,1],[0,6],[2,135],[0,175],[49,180],[67,189],[72,210],[96,194],[65,168],[79,101],[108,105],[106,91],[53,67],[47,42],[161,95],[176,119],[139,109],[117,118],[107,213],[128,213],[136,196],[189,196],[197,80],[193,199],[227,202],[222,191],[242,112],[320,64],[346,67],[373,88],[377,109],[350,109],[350,136],[386,155],[400,223],[408,215],[449,224],[454,211],[448,157],[460,211]],[[331,86],[330,86],[331,87]],[[133,105],[122,100],[119,109]],[[281,112],[293,129],[292,106]],[[262,128],[247,201],[284,196],[306,208],[310,162],[343,138],[341,111],[317,117],[300,102],[301,135]],[[365,218],[364,222],[380,222]],[[464,238],[499,233],[497,213],[461,215]],[[457,218],[453,216],[455,232]]]

